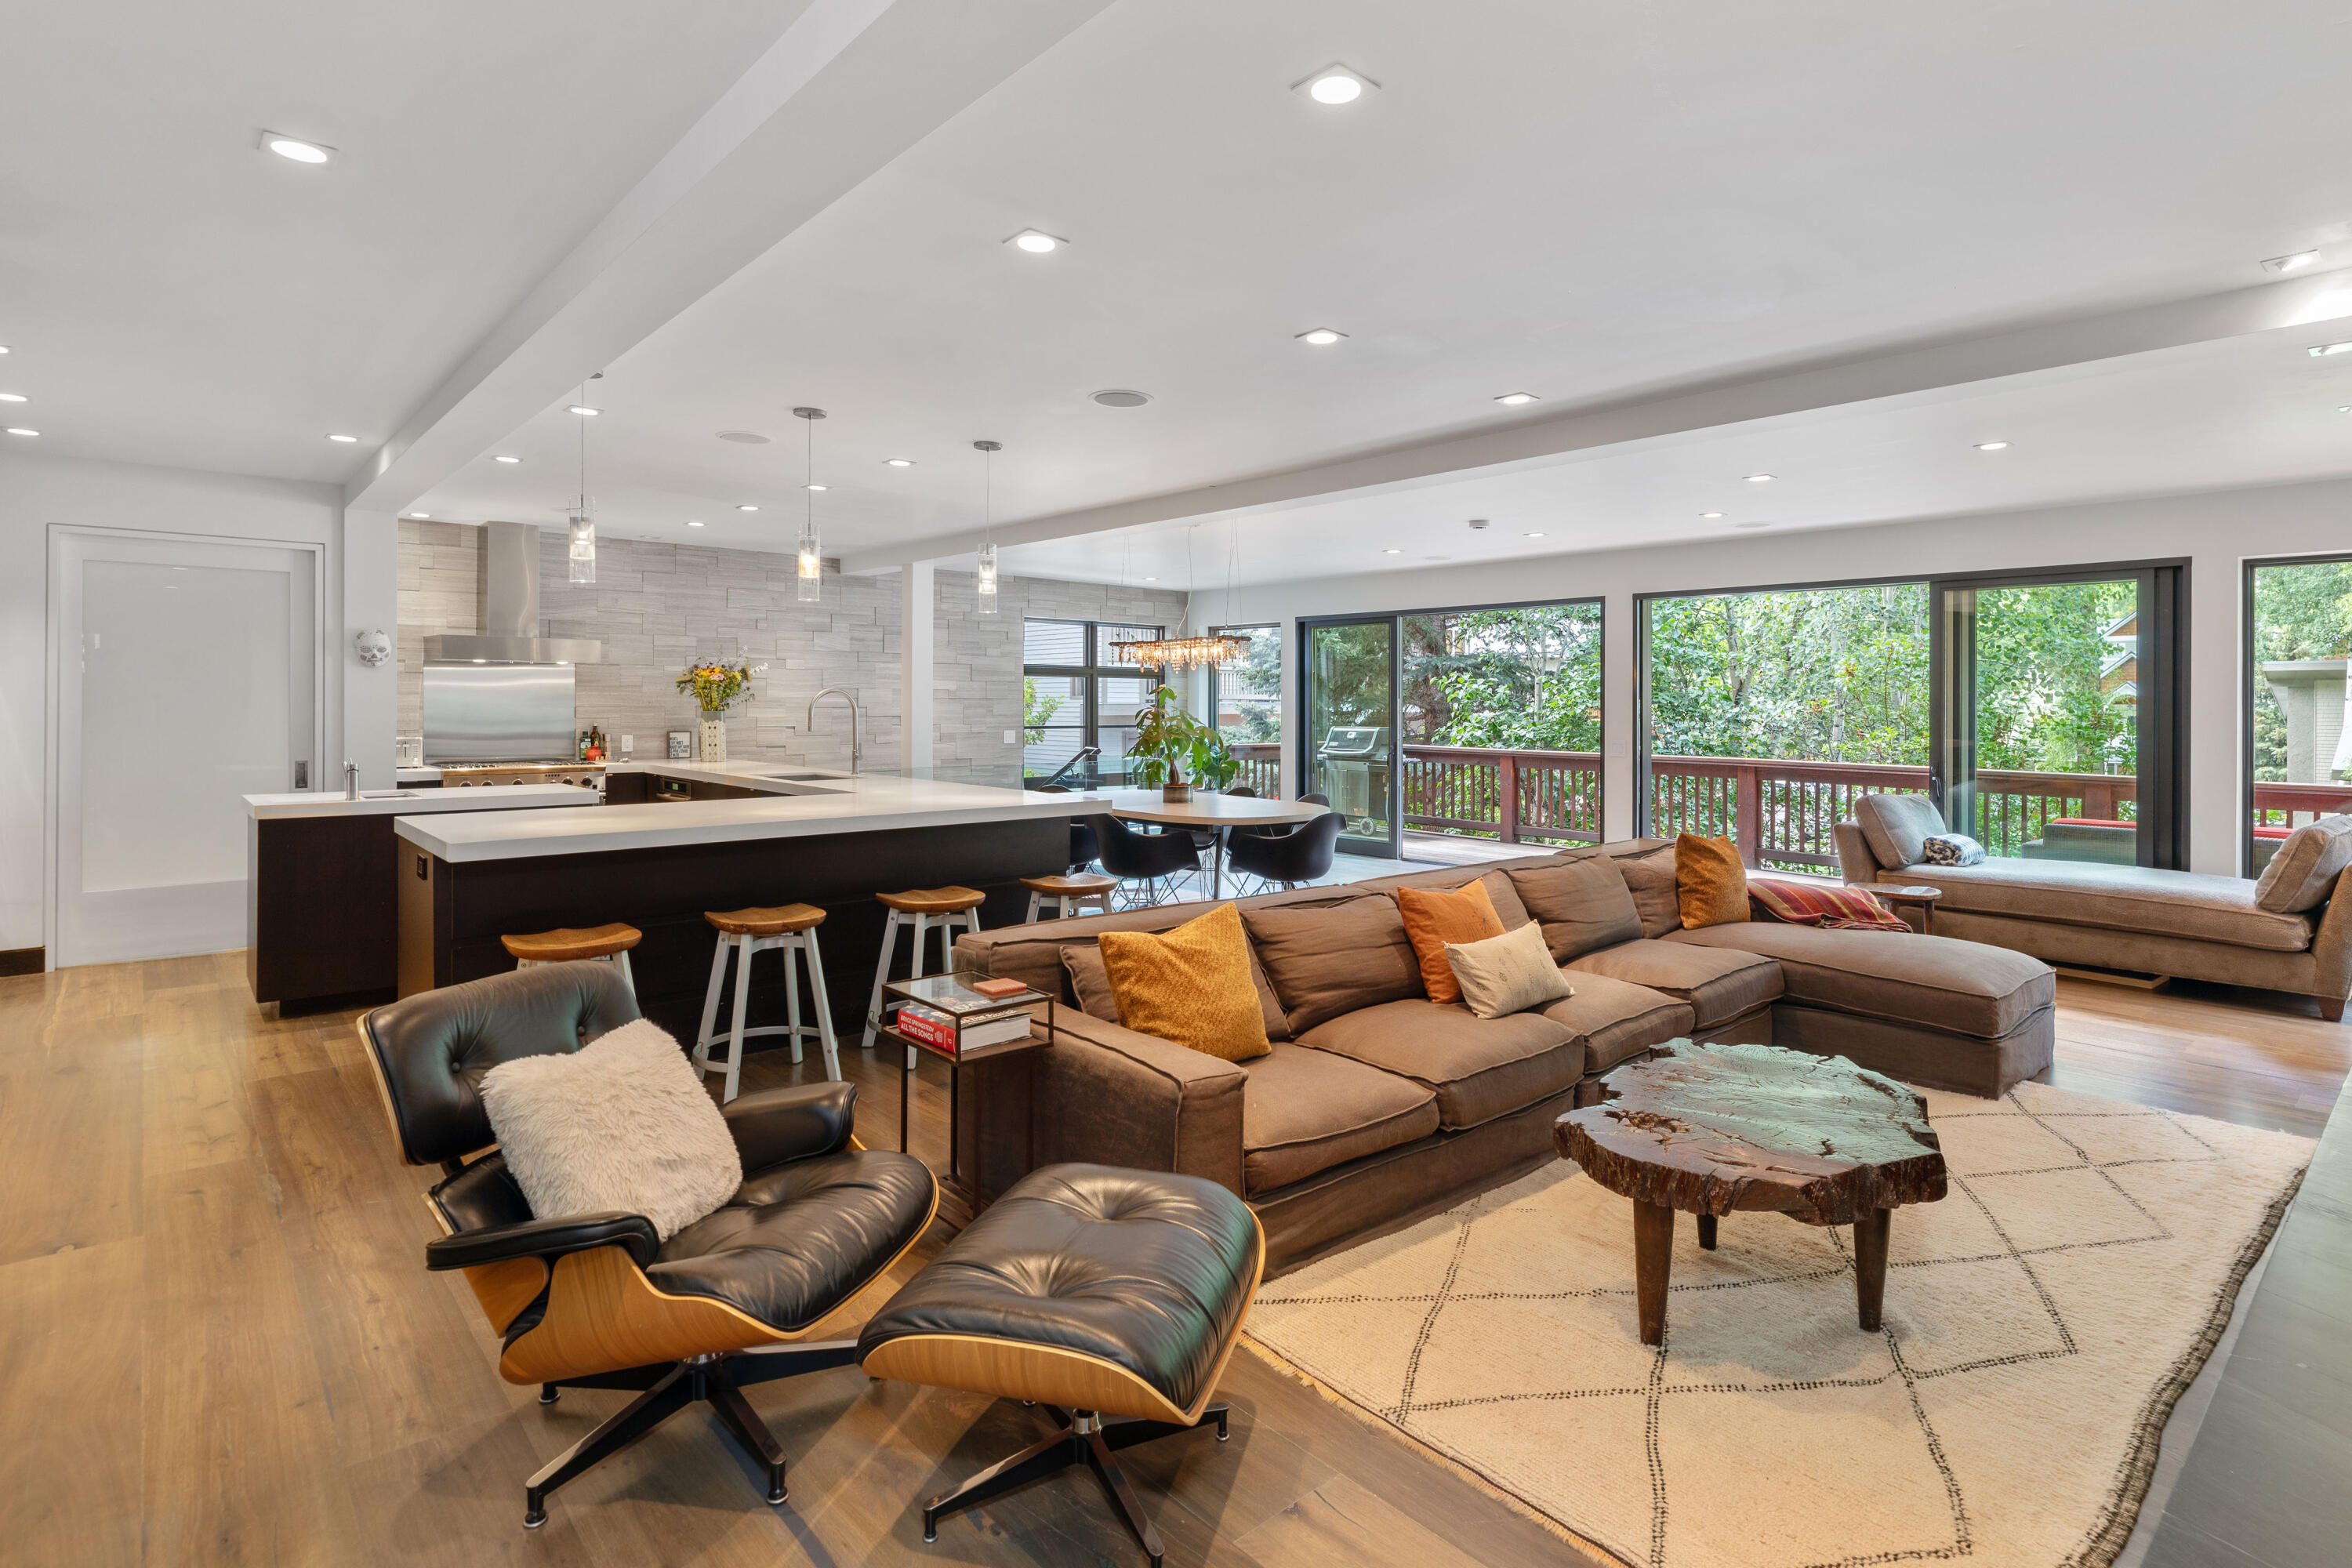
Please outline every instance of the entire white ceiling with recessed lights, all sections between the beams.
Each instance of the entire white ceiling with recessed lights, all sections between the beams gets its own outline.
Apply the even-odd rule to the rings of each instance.
[[[313,480],[367,451],[329,428],[409,418],[804,9],[0,2],[12,418]],[[2347,33],[2321,0],[1117,0],[612,360],[590,491],[614,534],[788,548],[790,409],[818,404],[828,552],[946,555],[974,437],[1004,442],[997,520],[1040,520],[2241,289],[2307,247],[2352,266]],[[1289,89],[1334,59],[1381,92]],[[343,153],[285,165],[263,125]],[[1028,226],[1073,244],[1002,244]],[[2296,334],[2223,339],[1258,508],[1242,576],[2352,473],[2340,402],[2352,364]],[[1971,451],[1987,430],[2016,447]],[[555,524],[579,435],[550,407],[414,510]],[[1183,527],[1134,534],[1007,559],[1181,585]]]

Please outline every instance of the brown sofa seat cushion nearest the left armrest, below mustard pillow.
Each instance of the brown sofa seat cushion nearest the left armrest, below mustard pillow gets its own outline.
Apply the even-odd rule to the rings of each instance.
[[[1272,1192],[1437,1131],[1437,1095],[1334,1051],[1279,1044],[1244,1063],[1242,1182]]]

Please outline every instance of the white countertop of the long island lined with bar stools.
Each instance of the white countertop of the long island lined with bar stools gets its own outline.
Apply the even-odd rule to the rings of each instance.
[[[694,764],[703,766],[703,764]],[[736,773],[729,769],[760,769]],[[628,764],[630,771],[670,778],[706,776],[715,783],[774,790],[753,799],[656,802],[602,806],[600,811],[499,811],[496,816],[402,816],[393,832],[452,863],[513,860],[524,856],[595,856],[616,849],[668,849],[675,844],[731,844],[743,839],[795,839],[887,827],[953,827],[962,823],[1011,823],[1068,818],[1084,811],[1073,795],[1037,795],[993,785],[896,778],[889,773],[821,773],[776,762],[717,764],[703,773],[675,762]],[[461,795],[515,797],[522,790],[461,790]]]

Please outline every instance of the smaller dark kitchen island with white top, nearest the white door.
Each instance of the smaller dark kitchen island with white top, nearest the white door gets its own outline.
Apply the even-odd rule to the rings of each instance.
[[[595,790],[327,790],[247,795],[245,978],[282,1018],[390,1001],[400,973],[393,820],[402,813],[572,811]]]

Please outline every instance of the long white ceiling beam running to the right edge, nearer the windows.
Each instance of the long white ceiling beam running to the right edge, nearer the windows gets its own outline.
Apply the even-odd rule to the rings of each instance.
[[[1576,461],[1581,456],[1658,442],[1724,425],[1811,414],[1863,402],[1919,400],[1980,390],[2004,376],[2030,376],[2089,367],[2124,355],[2183,348],[2281,327],[2314,327],[2352,317],[2352,268],[2279,282],[2086,315],[2065,322],[2018,327],[1882,353],[1835,360],[1795,371],[1722,381],[1668,397],[1585,407],[1550,418],[1517,418],[1496,430],[1390,447],[1357,458],[1289,468],[1225,484],[1115,501],[1110,505],[1000,522],[995,543],[1035,545],[1082,534],[1105,534],[1155,522],[1272,510],[1327,496],[1439,484],[1477,473],[1510,473]],[[842,571],[873,574],[908,557],[953,559],[981,543],[976,531],[941,534],[842,555]]]

